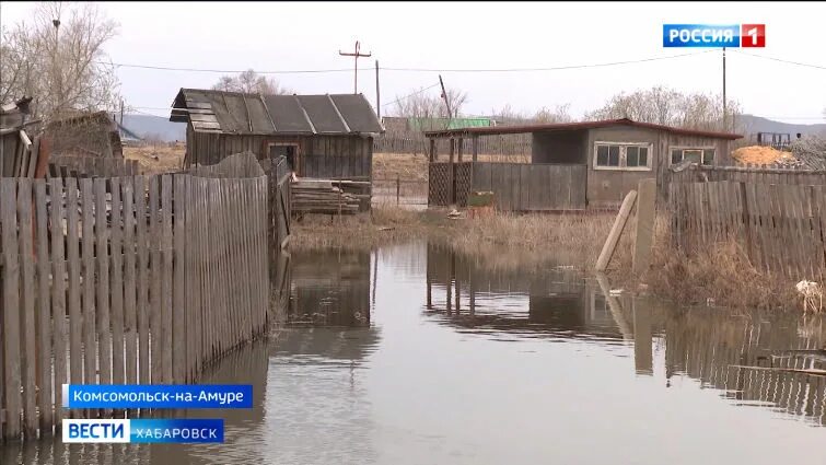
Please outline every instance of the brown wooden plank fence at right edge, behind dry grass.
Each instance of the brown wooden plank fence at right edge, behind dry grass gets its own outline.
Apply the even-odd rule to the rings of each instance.
[[[734,240],[759,269],[821,278],[826,186],[717,181],[668,188],[672,239],[687,253]]]

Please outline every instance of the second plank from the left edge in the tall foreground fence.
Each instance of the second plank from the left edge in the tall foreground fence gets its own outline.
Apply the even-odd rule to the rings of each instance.
[[[37,385],[37,342],[35,318],[35,276],[34,276],[34,244],[32,216],[32,179],[18,179],[18,219],[20,232],[20,263],[22,270],[22,363],[23,363],[23,429],[26,438],[37,433],[36,391]]]

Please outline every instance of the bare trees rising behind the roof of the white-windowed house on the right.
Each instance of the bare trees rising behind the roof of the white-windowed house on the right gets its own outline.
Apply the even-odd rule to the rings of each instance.
[[[728,127],[742,113],[740,104],[729,101]],[[585,114],[585,119],[629,118],[690,129],[725,130],[722,97],[713,94],[683,94],[675,90],[655,86],[630,94],[614,95],[602,108]]]

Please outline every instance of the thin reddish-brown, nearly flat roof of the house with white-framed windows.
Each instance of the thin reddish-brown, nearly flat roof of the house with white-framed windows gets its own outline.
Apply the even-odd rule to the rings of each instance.
[[[445,138],[445,137],[467,137],[467,136],[499,136],[508,133],[525,133],[525,132],[550,132],[550,131],[566,131],[578,129],[596,129],[606,128],[612,126],[632,126],[643,129],[653,129],[660,131],[666,131],[680,136],[697,136],[709,137],[717,139],[741,139],[743,136],[731,132],[714,132],[703,131],[696,129],[675,128],[665,125],[655,125],[653,123],[633,121],[628,118],[620,119],[601,119],[596,121],[578,121],[578,123],[554,123],[554,124],[537,124],[537,125],[515,125],[515,126],[492,126],[492,127],[476,127],[476,128],[457,128],[457,129],[442,129],[435,131],[426,131],[424,136],[432,138]]]

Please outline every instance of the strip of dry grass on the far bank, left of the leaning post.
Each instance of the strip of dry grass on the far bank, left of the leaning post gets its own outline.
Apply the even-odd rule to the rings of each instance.
[[[498,267],[552,263],[591,269],[613,224],[613,214],[511,214],[449,219],[446,211],[376,206],[351,217],[307,216],[293,222],[291,247],[363,248],[427,239],[457,252],[490,256]],[[633,228],[629,224],[629,230]],[[630,265],[630,234],[623,236],[615,268]]]

